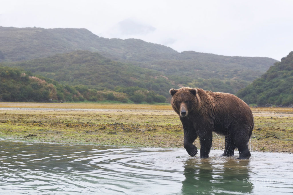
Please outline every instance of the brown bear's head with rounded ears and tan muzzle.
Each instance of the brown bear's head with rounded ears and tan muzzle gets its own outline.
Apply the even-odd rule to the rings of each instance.
[[[197,110],[199,107],[199,97],[195,88],[170,89],[170,94],[172,96],[172,108],[181,117],[187,116],[188,113]]]

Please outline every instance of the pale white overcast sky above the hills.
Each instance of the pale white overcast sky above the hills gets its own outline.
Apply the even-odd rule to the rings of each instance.
[[[293,51],[292,0],[0,0],[0,26],[86,28],[179,52],[280,60]]]

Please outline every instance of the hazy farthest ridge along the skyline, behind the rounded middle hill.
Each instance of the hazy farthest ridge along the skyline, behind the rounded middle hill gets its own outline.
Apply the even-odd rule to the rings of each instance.
[[[105,39],[86,29],[0,27],[0,39],[0,61],[2,62],[86,50],[98,52],[112,61],[157,70],[160,72],[157,74],[167,77],[179,86],[188,85],[233,94],[260,77],[276,62],[272,58],[262,57],[230,57],[194,51],[179,53],[170,47],[139,39]],[[111,70],[115,69],[113,65],[112,68]],[[49,76],[50,70],[47,70],[42,72],[47,72],[46,76],[55,78]],[[58,78],[55,79],[58,80]],[[77,84],[74,77],[65,80]],[[83,83],[86,82],[83,81]],[[123,83],[123,80],[121,82]],[[113,84],[108,84],[101,86],[109,89],[114,87]],[[145,88],[149,89],[149,87]]]

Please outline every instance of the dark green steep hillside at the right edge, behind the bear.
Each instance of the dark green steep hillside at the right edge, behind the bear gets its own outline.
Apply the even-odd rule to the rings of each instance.
[[[237,96],[257,106],[293,106],[293,51]]]

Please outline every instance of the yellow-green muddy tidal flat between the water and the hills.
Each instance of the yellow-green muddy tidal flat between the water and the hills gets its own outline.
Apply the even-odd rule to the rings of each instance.
[[[293,108],[252,108],[251,151],[293,152]],[[6,140],[137,147],[183,147],[183,129],[170,105],[0,103]],[[224,149],[213,133],[212,149]],[[200,147],[199,139],[194,143]]]

